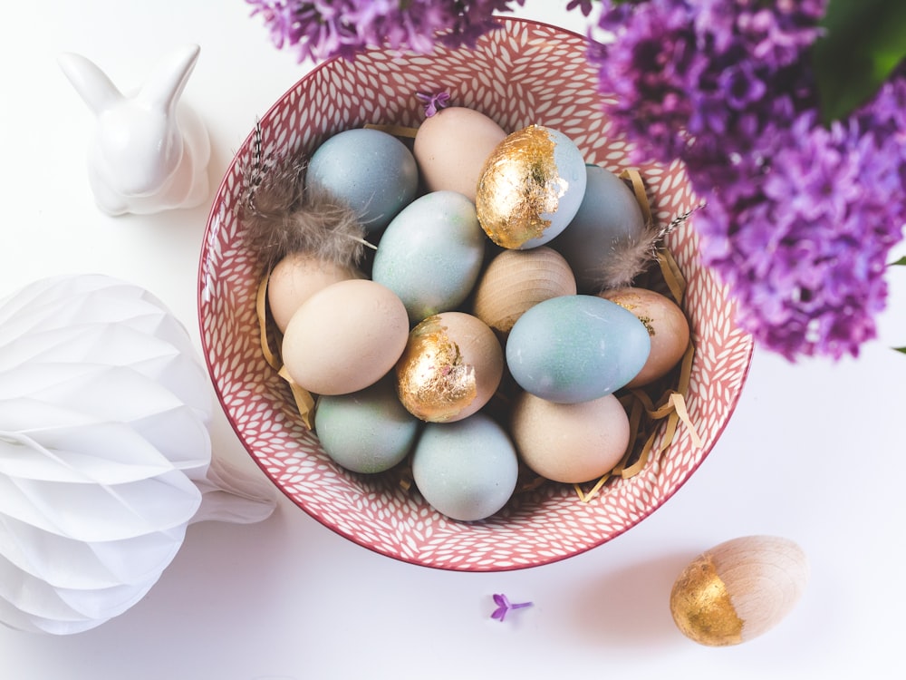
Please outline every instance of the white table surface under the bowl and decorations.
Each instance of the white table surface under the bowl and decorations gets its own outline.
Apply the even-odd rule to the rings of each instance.
[[[517,15],[583,30],[565,0]],[[212,178],[255,116],[308,66],[277,51],[242,0],[44,0],[0,20],[0,294],[99,272],[159,296],[198,342],[207,205],[110,218],[93,204],[92,126],[56,63],[90,57],[123,87],[181,43],[201,56],[185,92],[205,118]],[[898,255],[903,254],[899,248]],[[906,677],[906,267],[891,272],[880,338],[857,360],[788,364],[757,350],[726,432],[660,510],[573,559],[467,574],[381,557],[276,494],[260,524],[192,525],[125,614],[74,636],[0,627],[11,680]],[[200,347],[200,345],[199,345]],[[261,474],[226,419],[217,455]],[[765,533],[798,542],[812,579],[790,616],[740,646],[699,646],[670,617],[674,578],[700,551]],[[491,595],[535,606],[500,623]]]

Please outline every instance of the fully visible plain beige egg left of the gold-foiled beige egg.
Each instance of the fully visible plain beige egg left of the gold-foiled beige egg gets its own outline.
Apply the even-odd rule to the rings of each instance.
[[[296,310],[281,354],[295,384],[316,394],[347,394],[388,374],[408,336],[400,298],[370,279],[352,278],[324,287]]]

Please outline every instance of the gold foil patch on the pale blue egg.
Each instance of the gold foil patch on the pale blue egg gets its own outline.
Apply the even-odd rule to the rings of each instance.
[[[529,125],[501,141],[488,157],[475,199],[478,222],[488,238],[503,248],[520,248],[541,238],[567,183],[554,162],[553,137]]]

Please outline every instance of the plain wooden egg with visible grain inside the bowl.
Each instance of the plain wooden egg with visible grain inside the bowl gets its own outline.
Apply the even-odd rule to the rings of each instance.
[[[553,248],[504,250],[478,279],[473,312],[491,328],[506,334],[530,307],[575,292],[573,270]]]

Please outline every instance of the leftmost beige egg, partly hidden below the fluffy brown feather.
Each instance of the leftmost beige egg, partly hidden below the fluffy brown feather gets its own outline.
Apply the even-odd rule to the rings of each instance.
[[[293,253],[280,260],[267,280],[267,305],[281,333],[305,300],[322,288],[361,273],[307,253]]]

